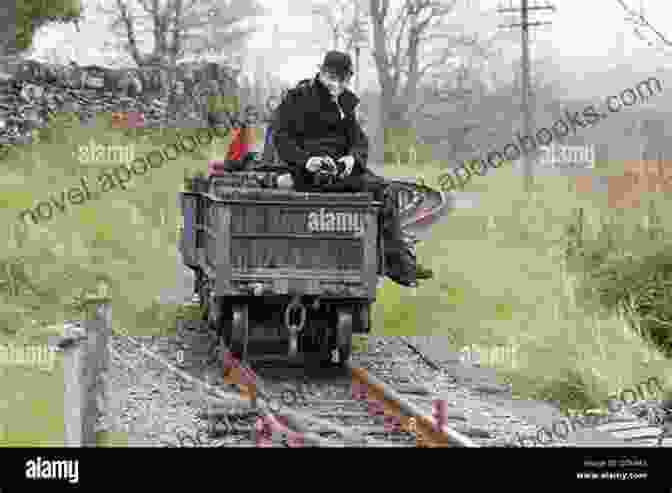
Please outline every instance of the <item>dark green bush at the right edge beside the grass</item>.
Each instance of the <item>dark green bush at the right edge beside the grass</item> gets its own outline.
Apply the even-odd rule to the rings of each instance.
[[[662,211],[660,214],[658,211]],[[578,272],[584,306],[597,304],[622,316],[637,335],[672,355],[672,245],[664,201],[592,218],[578,209],[567,226],[568,265]],[[592,220],[591,220],[592,219]]]

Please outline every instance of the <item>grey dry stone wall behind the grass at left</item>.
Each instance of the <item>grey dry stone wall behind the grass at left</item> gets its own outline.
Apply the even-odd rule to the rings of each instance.
[[[0,144],[30,142],[32,130],[61,112],[82,123],[100,112],[136,111],[148,127],[203,126],[211,97],[237,94],[237,75],[214,63],[109,69],[25,60],[0,78]]]

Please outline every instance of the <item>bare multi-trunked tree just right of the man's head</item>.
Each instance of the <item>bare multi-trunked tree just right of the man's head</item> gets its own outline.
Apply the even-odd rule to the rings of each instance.
[[[412,127],[421,109],[416,100],[423,81],[445,78],[459,65],[460,55],[487,57],[490,53],[487,43],[449,24],[456,3],[404,0],[400,8],[393,9],[390,0],[370,0],[373,59],[381,88],[379,128]],[[380,161],[385,133],[375,137],[372,155]]]

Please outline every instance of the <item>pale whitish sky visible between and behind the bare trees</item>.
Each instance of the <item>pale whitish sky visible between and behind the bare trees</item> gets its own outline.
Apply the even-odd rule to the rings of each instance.
[[[393,5],[401,0],[393,0]],[[645,17],[672,39],[672,2],[660,0],[625,0],[634,8],[643,8]],[[249,42],[245,68],[271,71],[288,82],[296,82],[313,75],[326,49],[331,48],[329,35],[311,16],[310,0],[261,0],[268,15],[259,17],[260,30]],[[495,77],[510,80],[519,70],[520,30],[498,29],[499,24],[516,22],[514,14],[500,14],[498,5],[519,6],[519,0],[457,0],[455,22],[461,29],[482,36],[499,33],[496,46],[501,55],[490,65]],[[647,46],[633,32],[625,11],[617,0],[530,0],[531,5],[556,7],[555,11],[532,11],[533,21],[550,21],[549,26],[531,28],[531,56],[533,72],[554,81],[577,97],[595,95],[605,87],[617,90],[629,87],[634,80],[632,73],[653,74],[669,66],[672,47],[658,50]],[[277,25],[277,32],[274,26]],[[81,63],[97,63],[105,36],[104,25],[87,21],[77,33],[72,26],[49,28],[36,43],[36,51],[49,49],[63,51],[62,41],[75,44],[76,58]],[[652,34],[647,38],[655,41]],[[664,53],[666,52],[666,53]],[[622,77],[615,80],[608,70],[620,67]],[[360,60],[360,88],[377,86],[371,54],[362,50]],[[630,79],[628,79],[630,77]],[[640,79],[636,79],[640,80]]]

